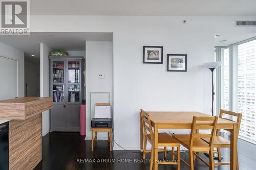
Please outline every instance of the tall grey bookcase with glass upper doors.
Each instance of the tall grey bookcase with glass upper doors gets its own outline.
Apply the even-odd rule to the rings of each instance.
[[[80,104],[85,99],[84,58],[50,58],[50,131],[79,131]]]

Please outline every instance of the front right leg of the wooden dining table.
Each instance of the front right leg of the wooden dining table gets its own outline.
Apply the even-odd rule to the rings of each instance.
[[[230,134],[230,169],[237,169],[237,125],[233,125]]]

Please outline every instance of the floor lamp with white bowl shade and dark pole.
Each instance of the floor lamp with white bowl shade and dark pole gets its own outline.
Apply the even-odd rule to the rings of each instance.
[[[214,70],[221,65],[221,61],[204,63],[203,65],[211,71],[211,115],[214,116]],[[204,153],[204,155],[209,156],[208,153]],[[218,154],[214,154],[214,159],[218,159]]]

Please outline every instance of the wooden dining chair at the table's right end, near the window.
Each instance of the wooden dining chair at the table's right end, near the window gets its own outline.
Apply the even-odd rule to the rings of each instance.
[[[224,118],[224,114],[228,115],[228,118]],[[220,110],[220,118],[228,119],[232,122],[237,122],[237,135],[236,135],[236,140],[238,139],[238,134],[240,130],[240,125],[241,125],[241,120],[242,120],[242,113],[236,113],[228,110]],[[232,117],[236,117],[236,120],[233,120]],[[229,131],[228,129],[225,129],[226,131]],[[206,142],[209,142],[209,139],[207,138],[202,138]],[[214,153],[218,154],[218,159],[221,161],[221,148],[230,148],[230,140],[220,136],[220,129],[216,131],[216,136],[214,138],[214,148],[217,148],[217,151],[214,151]],[[216,162],[215,165],[230,165],[230,162]],[[237,155],[237,169],[239,169],[239,163],[238,163],[238,155]]]

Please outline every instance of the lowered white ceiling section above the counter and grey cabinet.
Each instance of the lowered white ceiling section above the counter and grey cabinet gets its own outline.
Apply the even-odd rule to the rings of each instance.
[[[31,55],[39,59],[40,42],[52,50],[84,51],[85,41],[112,41],[113,33],[30,33],[29,36],[1,36],[0,42],[25,52],[25,60]]]

